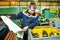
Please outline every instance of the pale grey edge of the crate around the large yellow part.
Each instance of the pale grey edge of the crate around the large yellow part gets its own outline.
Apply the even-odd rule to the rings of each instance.
[[[29,35],[30,35],[30,40],[60,40],[60,35],[59,36],[52,36],[52,37],[43,37],[43,38],[33,38],[30,30],[29,30]]]

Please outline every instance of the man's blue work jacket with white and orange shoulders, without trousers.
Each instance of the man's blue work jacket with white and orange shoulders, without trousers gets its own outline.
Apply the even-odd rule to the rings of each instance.
[[[22,18],[22,24],[21,27],[24,28],[25,26],[28,26],[29,28],[33,28],[38,23],[38,16],[33,15],[32,17],[29,17],[29,12],[20,12],[16,16],[12,16],[12,19],[20,19]]]

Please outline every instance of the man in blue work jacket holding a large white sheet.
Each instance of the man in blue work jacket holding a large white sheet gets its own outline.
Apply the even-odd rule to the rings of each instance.
[[[23,40],[28,40],[28,29],[33,28],[38,23],[38,13],[35,12],[36,4],[30,3],[29,8],[26,12],[20,12],[16,16],[7,16],[11,19],[20,19],[22,18],[21,28],[24,32]]]

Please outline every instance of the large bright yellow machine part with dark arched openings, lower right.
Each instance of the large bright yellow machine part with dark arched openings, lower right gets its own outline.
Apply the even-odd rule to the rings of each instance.
[[[37,26],[34,29],[31,29],[31,33],[33,36],[35,35],[42,38],[60,35],[60,30],[51,26]]]

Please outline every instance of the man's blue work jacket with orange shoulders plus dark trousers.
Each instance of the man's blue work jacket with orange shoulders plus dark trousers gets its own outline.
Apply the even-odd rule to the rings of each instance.
[[[31,15],[28,10],[26,12],[20,12],[16,16],[12,16],[11,19],[20,19],[22,18],[21,28],[23,29],[25,26],[28,28],[33,28],[38,23],[38,13],[34,13]],[[24,32],[23,40],[28,40],[28,30]]]

